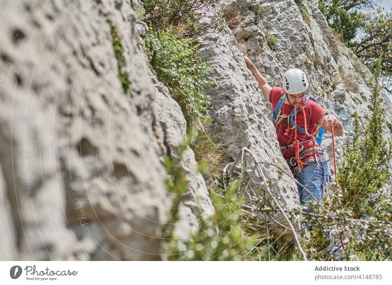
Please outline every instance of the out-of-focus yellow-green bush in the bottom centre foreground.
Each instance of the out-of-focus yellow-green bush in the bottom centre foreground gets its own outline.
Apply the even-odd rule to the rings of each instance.
[[[244,214],[241,207],[244,198],[239,191],[238,181],[233,181],[223,191],[219,187],[211,191],[211,199],[215,206],[215,214],[203,217],[201,210],[197,220],[199,229],[185,241],[186,249],[180,246],[183,242],[173,236],[174,227],[179,219],[178,208],[188,190],[185,171],[181,166],[181,157],[189,142],[194,140],[195,133],[191,130],[178,151],[165,158],[168,172],[166,188],[172,196],[172,207],[168,222],[164,225],[163,238],[166,239],[165,255],[170,260],[238,260],[242,251],[249,247],[252,240],[245,238],[240,227],[240,218]]]

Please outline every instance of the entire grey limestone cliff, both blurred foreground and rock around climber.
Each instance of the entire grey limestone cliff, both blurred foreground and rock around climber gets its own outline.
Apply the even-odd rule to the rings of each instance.
[[[247,147],[259,162],[288,170],[270,103],[243,53],[271,85],[280,86],[289,68],[305,71],[311,93],[346,131],[354,112],[368,119],[370,72],[334,37],[316,5],[303,2],[308,14],[294,0],[222,0],[226,32],[199,37],[215,82],[205,90],[212,133],[226,146],[229,163]],[[2,4],[1,260],[165,259],[162,226],[172,207],[164,183],[167,154],[178,160],[189,182],[175,236],[196,231],[197,209],[203,216],[214,213],[192,149],[178,157],[186,121],[141,49],[146,26],[136,19],[137,4]],[[205,15],[202,21],[209,19]],[[331,150],[330,139],[324,142]],[[337,139],[338,158],[343,142],[344,137]],[[274,166],[262,167],[281,204],[297,208],[293,180],[280,177]],[[292,221],[299,227],[295,216]]]

